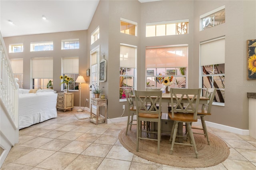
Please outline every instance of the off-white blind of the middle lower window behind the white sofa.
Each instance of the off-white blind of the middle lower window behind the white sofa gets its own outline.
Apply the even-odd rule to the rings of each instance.
[[[52,79],[53,58],[31,59],[32,79]]]

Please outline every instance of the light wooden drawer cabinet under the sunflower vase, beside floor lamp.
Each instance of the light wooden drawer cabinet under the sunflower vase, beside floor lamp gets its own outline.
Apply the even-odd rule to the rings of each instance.
[[[57,97],[57,110],[63,109],[65,112],[66,109],[72,109],[74,108],[74,93],[58,93]]]

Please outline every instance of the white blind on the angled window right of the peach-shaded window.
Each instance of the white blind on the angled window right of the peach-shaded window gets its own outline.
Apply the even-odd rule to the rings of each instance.
[[[225,63],[225,37],[201,42],[201,66]]]

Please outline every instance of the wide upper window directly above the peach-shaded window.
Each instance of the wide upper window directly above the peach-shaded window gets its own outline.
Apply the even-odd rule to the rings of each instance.
[[[146,24],[146,37],[188,34],[188,20]]]

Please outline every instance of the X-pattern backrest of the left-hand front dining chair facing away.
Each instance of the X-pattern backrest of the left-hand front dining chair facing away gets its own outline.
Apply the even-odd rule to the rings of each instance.
[[[137,114],[161,114],[162,91],[134,91]],[[150,106],[145,103],[150,102]],[[158,105],[157,105],[158,104]]]

